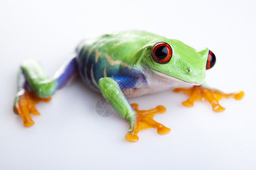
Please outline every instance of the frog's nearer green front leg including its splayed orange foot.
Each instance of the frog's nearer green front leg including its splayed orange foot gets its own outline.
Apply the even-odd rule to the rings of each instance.
[[[125,81],[127,82],[127,81]],[[155,113],[164,113],[166,108],[158,106],[148,111],[139,111],[138,104],[131,104],[121,91],[119,84],[123,82],[116,81],[115,78],[101,78],[98,82],[102,95],[115,110],[130,123],[130,129],[125,136],[129,142],[138,141],[138,132],[142,129],[155,128],[159,134],[167,134],[170,129],[153,120]]]

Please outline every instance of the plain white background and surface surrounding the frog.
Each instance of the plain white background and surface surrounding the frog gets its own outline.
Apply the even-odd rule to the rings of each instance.
[[[0,169],[256,169],[254,1],[1,1]],[[222,99],[214,113],[206,101],[186,108],[171,90],[130,99],[140,109],[164,105],[155,120],[171,128],[139,133],[125,141],[121,116],[94,110],[101,95],[76,80],[24,128],[13,113],[19,65],[33,58],[53,75],[77,43],[113,31],[140,29],[208,47],[217,62],[209,86],[245,91],[241,101]]]

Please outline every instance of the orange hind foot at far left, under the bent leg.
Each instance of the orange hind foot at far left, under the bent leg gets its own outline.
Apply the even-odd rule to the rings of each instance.
[[[34,94],[32,94],[32,92],[25,90],[23,94],[19,96],[19,100],[14,106],[14,111],[22,117],[23,125],[26,127],[30,127],[34,125],[34,121],[32,120],[30,113],[40,115],[35,107],[35,104],[39,101],[48,102],[50,100],[51,97],[43,99],[35,96]]]

